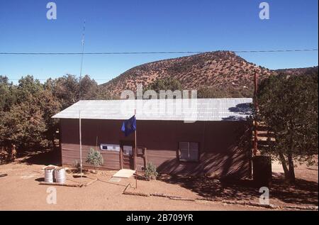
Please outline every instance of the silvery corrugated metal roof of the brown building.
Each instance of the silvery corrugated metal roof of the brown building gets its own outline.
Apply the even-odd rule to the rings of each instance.
[[[52,116],[59,119],[240,121],[252,114],[252,99],[152,99],[78,101]]]

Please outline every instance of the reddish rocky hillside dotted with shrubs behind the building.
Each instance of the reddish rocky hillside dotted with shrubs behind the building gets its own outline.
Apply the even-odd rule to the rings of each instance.
[[[260,79],[276,74],[276,71],[247,62],[233,52],[217,51],[139,65],[102,85],[111,95],[118,96],[125,89],[135,91],[136,84],[146,87],[157,79],[171,77],[178,79],[183,89],[208,88],[215,92],[230,89],[245,94],[227,97],[251,97],[254,72]]]

